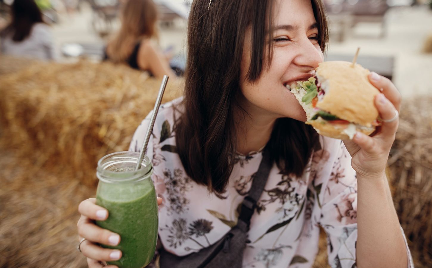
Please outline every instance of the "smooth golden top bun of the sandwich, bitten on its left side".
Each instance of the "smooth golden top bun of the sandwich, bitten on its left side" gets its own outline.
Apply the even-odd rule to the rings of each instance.
[[[369,82],[368,69],[359,64],[351,67],[351,64],[346,61],[319,63],[316,75],[325,96],[317,107],[340,119],[371,127],[378,117],[374,100],[379,91]]]

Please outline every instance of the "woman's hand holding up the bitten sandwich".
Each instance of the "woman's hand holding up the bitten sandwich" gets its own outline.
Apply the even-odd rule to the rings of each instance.
[[[400,110],[401,96],[394,84],[376,73],[369,75],[369,81],[382,94],[375,98],[375,106],[383,120],[373,136],[357,132],[353,140],[345,140],[345,146],[351,154],[351,165],[358,175],[363,177],[383,177],[395,133],[399,126],[397,117]],[[392,120],[391,122],[384,122]]]

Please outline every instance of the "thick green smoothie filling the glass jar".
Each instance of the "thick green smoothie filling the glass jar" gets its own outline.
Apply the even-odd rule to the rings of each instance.
[[[158,205],[150,178],[138,183],[104,183],[99,181],[96,204],[108,209],[106,221],[96,221],[104,229],[118,233],[122,257],[109,265],[141,268],[152,260],[158,237]]]

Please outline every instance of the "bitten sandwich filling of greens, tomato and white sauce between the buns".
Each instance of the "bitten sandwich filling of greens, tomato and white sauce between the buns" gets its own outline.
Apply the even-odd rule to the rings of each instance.
[[[299,81],[297,85],[286,85],[286,87],[295,95],[295,98],[305,110],[308,119],[306,123],[310,124],[316,121],[322,124],[331,124],[334,128],[340,129],[342,133],[349,136],[349,139],[353,139],[357,129],[371,129],[367,126],[343,120],[328,111],[318,108],[318,102],[322,101],[328,89],[325,83],[318,82],[316,76],[309,78],[307,81]],[[375,120],[372,125],[379,126],[380,124]]]

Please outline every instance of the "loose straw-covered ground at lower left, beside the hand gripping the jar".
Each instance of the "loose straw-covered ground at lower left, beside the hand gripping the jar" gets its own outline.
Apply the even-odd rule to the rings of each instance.
[[[35,155],[0,150],[0,267],[87,267],[76,251],[77,208],[95,189],[74,180],[73,170],[35,167]]]

